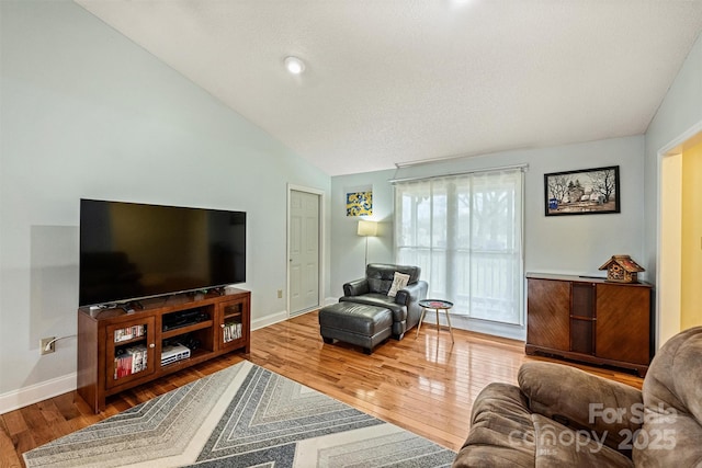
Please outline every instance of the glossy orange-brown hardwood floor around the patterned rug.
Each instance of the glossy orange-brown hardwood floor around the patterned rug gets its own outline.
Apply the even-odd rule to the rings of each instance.
[[[248,358],[376,418],[457,450],[477,393],[491,381],[514,384],[524,343],[464,330],[437,333],[427,323],[389,340],[372,355],[344,343],[324,344],[317,312],[251,333],[251,353],[217,357],[107,399],[101,414],[75,391],[0,415],[0,467],[21,467],[22,453],[86,427],[173,388]],[[576,366],[575,364],[570,364]],[[592,374],[641,388],[634,375],[582,365]]]

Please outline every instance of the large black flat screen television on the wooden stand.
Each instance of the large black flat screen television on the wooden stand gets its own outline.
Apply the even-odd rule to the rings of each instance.
[[[246,213],[80,201],[79,305],[246,282]]]

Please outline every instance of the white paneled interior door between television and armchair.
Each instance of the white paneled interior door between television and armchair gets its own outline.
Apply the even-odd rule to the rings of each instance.
[[[319,307],[319,195],[293,190],[288,233],[290,315]]]

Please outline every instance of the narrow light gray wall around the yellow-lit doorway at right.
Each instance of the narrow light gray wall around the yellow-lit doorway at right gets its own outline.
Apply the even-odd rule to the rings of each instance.
[[[658,153],[702,123],[702,35],[692,46],[690,54],[680,68],[672,85],[668,90],[658,112],[654,116],[645,140],[645,250],[649,269],[649,281],[656,278],[656,251],[658,244],[658,193],[659,170]]]

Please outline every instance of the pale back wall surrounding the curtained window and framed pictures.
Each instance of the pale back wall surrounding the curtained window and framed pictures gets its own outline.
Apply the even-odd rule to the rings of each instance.
[[[393,189],[390,179],[430,176],[513,164],[529,164],[524,180],[524,265],[526,272],[602,275],[598,269],[613,254],[643,260],[644,215],[643,136],[614,138],[553,148],[506,151],[484,157],[435,162],[399,171],[380,171],[331,178],[331,292],[363,273],[363,238],[355,235],[358,218],[347,218],[347,189],[373,186],[373,217],[385,221],[381,239],[371,239],[369,260],[392,262]],[[546,217],[544,173],[619,165],[621,214]],[[646,265],[643,265],[646,267]]]

